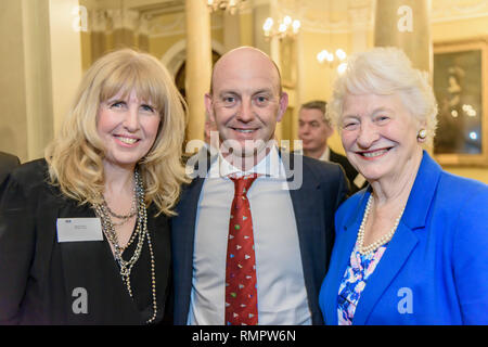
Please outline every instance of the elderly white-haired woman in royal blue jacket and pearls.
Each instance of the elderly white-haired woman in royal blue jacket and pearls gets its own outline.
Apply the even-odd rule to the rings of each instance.
[[[328,112],[369,187],[336,213],[325,323],[487,324],[488,187],[423,150],[437,114],[426,76],[399,49],[357,54]]]

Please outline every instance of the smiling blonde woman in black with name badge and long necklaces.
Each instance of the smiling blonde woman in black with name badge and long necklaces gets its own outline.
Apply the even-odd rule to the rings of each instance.
[[[17,168],[0,202],[0,324],[163,320],[183,104],[149,54],[90,67],[46,158]]]

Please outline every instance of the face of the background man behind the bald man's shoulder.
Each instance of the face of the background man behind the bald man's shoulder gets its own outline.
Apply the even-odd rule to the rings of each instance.
[[[304,151],[323,151],[333,129],[324,121],[323,113],[317,108],[301,108],[298,115],[298,138]]]

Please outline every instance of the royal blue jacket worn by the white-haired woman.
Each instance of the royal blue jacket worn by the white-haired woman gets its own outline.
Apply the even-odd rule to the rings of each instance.
[[[358,192],[336,213],[336,241],[319,297],[325,324],[337,324],[338,288],[370,194]],[[488,324],[487,184],[444,171],[424,152],[352,324]]]

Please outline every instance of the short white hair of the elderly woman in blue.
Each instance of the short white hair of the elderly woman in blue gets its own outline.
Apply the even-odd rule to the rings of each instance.
[[[346,72],[334,83],[328,115],[338,131],[347,93],[398,94],[407,110],[425,123],[427,144],[432,144],[437,126],[437,103],[426,73],[412,67],[398,48],[376,47],[351,55]]]

